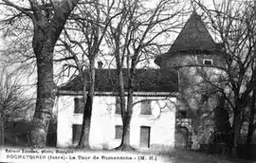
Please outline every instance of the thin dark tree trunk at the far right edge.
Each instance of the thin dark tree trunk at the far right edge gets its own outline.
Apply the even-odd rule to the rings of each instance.
[[[255,102],[256,102],[256,90],[253,91],[251,104],[250,104],[250,113],[249,113],[249,125],[247,133],[247,145],[251,144],[253,133],[255,131],[254,126],[254,116],[255,116]]]

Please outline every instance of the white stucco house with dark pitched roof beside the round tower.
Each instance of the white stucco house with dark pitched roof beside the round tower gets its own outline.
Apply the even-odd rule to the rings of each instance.
[[[96,93],[92,106],[89,142],[93,149],[113,149],[121,141],[116,69],[96,69]],[[125,71],[124,71],[125,72]],[[84,72],[86,73],[86,72]],[[72,147],[82,131],[82,83],[76,77],[58,91],[57,146]],[[124,80],[127,78],[124,75]],[[174,148],[178,79],[174,71],[137,69],[131,145],[138,150]],[[143,101],[141,101],[143,100]]]

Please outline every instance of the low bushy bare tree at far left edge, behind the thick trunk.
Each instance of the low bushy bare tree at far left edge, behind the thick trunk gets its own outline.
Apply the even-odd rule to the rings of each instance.
[[[5,123],[17,115],[24,118],[33,106],[31,99],[26,98],[26,90],[20,80],[4,70],[1,72],[0,85],[0,145],[5,143]]]

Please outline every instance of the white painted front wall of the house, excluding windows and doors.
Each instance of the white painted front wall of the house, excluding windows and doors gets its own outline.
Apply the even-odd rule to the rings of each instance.
[[[69,147],[72,144],[72,124],[82,124],[82,114],[74,114],[74,96],[61,96],[55,105],[58,110],[57,146]],[[139,100],[152,101],[152,115],[140,115],[138,102],[134,106],[131,119],[131,145],[139,148],[140,126],[151,127],[150,150],[172,150],[174,147],[175,106],[176,98],[135,97]],[[127,101],[127,100],[126,100]],[[161,111],[160,111],[161,108]],[[116,98],[113,96],[96,96],[93,102],[90,146],[93,149],[112,149],[118,147],[119,139],[115,139],[115,126],[122,125],[120,115],[115,114]],[[145,149],[149,150],[149,149]]]

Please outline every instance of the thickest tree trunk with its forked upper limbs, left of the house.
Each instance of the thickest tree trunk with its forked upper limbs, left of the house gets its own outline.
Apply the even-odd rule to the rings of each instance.
[[[53,81],[53,50],[64,24],[79,0],[64,0],[56,7],[52,20],[44,14],[37,1],[31,1],[34,35],[32,46],[37,62],[37,100],[35,114],[29,129],[29,143],[34,147],[46,146],[46,136],[55,100]]]

